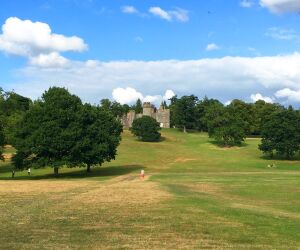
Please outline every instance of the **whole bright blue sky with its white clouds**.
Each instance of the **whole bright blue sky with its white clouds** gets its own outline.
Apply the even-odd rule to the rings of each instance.
[[[0,87],[85,102],[300,103],[300,0],[0,2]]]

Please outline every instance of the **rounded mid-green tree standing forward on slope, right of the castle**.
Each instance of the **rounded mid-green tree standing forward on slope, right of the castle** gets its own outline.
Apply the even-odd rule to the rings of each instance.
[[[240,145],[246,138],[247,122],[232,106],[214,105],[207,112],[208,133],[225,146]]]

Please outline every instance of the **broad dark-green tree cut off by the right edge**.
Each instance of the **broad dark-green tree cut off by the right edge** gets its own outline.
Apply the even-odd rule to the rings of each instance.
[[[293,157],[300,149],[299,113],[291,107],[272,113],[263,124],[259,149],[270,156]]]

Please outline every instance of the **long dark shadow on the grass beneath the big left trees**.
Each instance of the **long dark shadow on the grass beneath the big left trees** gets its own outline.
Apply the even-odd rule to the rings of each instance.
[[[32,169],[32,175],[22,175],[18,176],[16,172],[14,179],[11,177],[0,177],[0,180],[44,180],[44,179],[56,179],[56,180],[66,180],[66,179],[85,179],[85,178],[101,178],[105,177],[115,177],[130,174],[137,170],[145,169],[142,165],[122,165],[122,166],[108,166],[108,167],[94,167],[90,173],[86,172],[86,168],[74,168],[72,172],[61,172],[57,177],[53,173],[47,173],[44,175],[34,175],[34,169]],[[51,169],[52,170],[52,169]],[[53,170],[52,170],[53,171]],[[7,171],[8,172],[8,171]],[[9,170],[10,172],[10,170]]]

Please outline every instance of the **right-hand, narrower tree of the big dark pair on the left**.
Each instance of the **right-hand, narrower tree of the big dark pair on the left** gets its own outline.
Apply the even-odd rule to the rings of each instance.
[[[123,126],[111,113],[89,104],[82,107],[78,118],[79,140],[72,154],[76,165],[86,165],[90,172],[91,166],[115,159]]]

